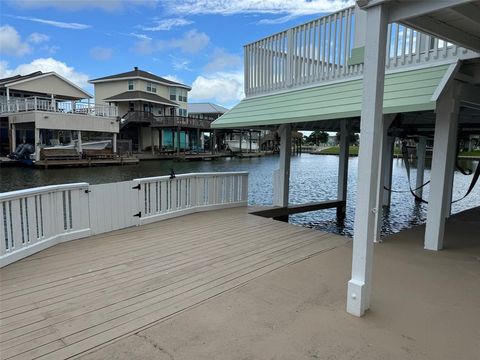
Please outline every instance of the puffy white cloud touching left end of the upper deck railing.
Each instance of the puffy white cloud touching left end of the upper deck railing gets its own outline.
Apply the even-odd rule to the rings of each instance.
[[[188,94],[191,100],[233,105],[244,97],[243,72],[217,72],[198,76]]]

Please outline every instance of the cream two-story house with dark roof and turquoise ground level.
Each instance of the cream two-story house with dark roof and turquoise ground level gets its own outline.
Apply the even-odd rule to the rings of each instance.
[[[95,101],[116,105],[120,137],[138,152],[194,150],[209,122],[188,117],[190,86],[134,67],[132,71],[90,80]]]

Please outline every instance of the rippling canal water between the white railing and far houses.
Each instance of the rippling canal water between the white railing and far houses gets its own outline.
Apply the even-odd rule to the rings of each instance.
[[[477,161],[463,161],[462,167],[475,169]],[[355,194],[357,180],[358,158],[349,159],[347,216],[344,222],[336,219],[335,209],[320,210],[290,217],[290,222],[323,231],[352,235],[355,212]],[[430,169],[427,164],[425,181],[430,179]],[[412,166],[412,187],[415,187],[415,163]],[[30,169],[2,168],[0,169],[0,192],[19,190],[36,186],[88,182],[100,184],[134,178],[160,176],[170,174],[174,169],[177,174],[190,172],[212,171],[248,171],[249,203],[271,205],[272,174],[278,168],[278,156],[263,158],[238,159],[223,158],[216,161],[174,162],[174,161],[143,161],[139,165],[65,168],[65,169]],[[338,156],[302,154],[292,157],[290,203],[305,203],[335,199],[337,192]],[[472,175],[466,176],[455,172],[454,199],[461,198],[470,186]],[[392,189],[406,192],[392,193],[392,205],[385,211],[382,232],[390,234],[402,229],[422,224],[426,219],[426,204],[417,204],[407,191],[408,180],[405,166],[401,159],[393,162]],[[427,185],[424,198],[428,198]],[[452,205],[456,213],[475,206],[480,206],[480,184],[465,199]]]

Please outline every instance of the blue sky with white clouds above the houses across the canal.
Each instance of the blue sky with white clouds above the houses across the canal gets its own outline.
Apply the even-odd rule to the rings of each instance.
[[[134,66],[192,86],[189,101],[243,97],[243,45],[351,0],[0,0],[0,77],[88,79]]]

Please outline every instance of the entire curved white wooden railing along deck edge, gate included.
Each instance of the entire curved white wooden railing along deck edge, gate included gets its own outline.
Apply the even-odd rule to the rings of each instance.
[[[0,267],[59,242],[199,211],[246,206],[248,173],[199,173],[0,193]]]

